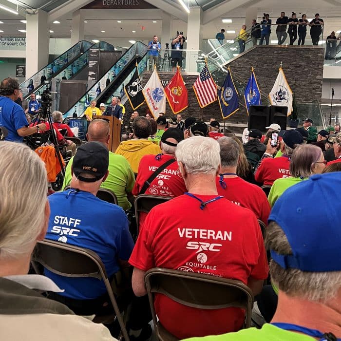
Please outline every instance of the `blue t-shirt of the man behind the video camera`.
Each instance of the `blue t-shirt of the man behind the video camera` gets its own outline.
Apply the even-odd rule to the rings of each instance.
[[[0,126],[8,130],[5,141],[13,142],[22,142],[22,137],[18,135],[17,130],[28,127],[22,107],[5,96],[0,97]]]

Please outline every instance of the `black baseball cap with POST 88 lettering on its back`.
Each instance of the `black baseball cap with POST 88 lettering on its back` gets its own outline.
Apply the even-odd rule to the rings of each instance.
[[[100,142],[88,142],[78,147],[72,170],[80,181],[95,182],[101,179],[107,172],[109,166],[109,151]],[[86,178],[79,174],[87,173],[94,175],[93,178]]]

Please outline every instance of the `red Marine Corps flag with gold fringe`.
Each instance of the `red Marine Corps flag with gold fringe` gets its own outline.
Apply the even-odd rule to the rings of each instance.
[[[181,113],[188,107],[188,93],[179,67],[177,67],[174,77],[166,86],[165,94],[173,114]]]

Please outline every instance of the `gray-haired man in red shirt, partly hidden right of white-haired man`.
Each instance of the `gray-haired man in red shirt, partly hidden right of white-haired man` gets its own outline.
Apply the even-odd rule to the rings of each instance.
[[[258,219],[267,224],[270,205],[264,191],[237,175],[239,146],[230,137],[218,139],[220,145],[221,168],[216,177],[218,193],[233,204],[250,209]]]

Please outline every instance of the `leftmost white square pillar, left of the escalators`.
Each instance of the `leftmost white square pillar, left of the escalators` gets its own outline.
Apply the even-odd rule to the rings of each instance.
[[[48,64],[49,26],[47,12],[26,15],[26,79]]]

